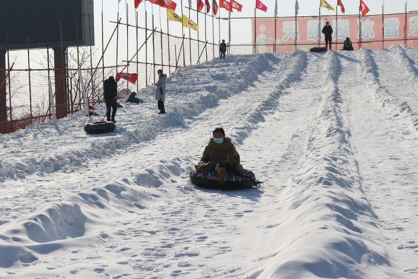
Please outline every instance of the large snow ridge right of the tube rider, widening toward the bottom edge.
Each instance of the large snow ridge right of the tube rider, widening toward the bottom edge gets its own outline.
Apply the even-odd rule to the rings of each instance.
[[[341,64],[334,52],[327,59],[325,97],[308,153],[293,178],[294,187],[284,191],[292,197],[284,215],[291,217],[284,220],[280,231],[300,233],[278,236],[282,243],[278,255],[258,278],[386,276],[382,267],[389,266],[389,261],[382,249],[377,216],[362,192],[350,130],[341,116],[336,86]]]

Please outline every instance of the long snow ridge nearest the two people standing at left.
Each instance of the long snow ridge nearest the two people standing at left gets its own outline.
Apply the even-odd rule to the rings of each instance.
[[[72,172],[77,167],[86,166],[88,160],[100,160],[132,144],[152,140],[167,128],[185,126],[184,119],[196,116],[208,108],[214,107],[218,100],[240,93],[251,82],[254,82],[258,75],[269,66],[268,55],[241,56],[240,59],[236,59],[237,61],[230,65],[211,62],[180,70],[179,73],[173,74],[167,82],[168,86],[173,88],[171,96],[174,100],[171,105],[171,112],[168,112],[165,117],[143,119],[139,123],[141,128],[131,131],[122,130],[119,137],[93,142],[85,149],[72,150],[58,155],[47,155],[45,158],[26,159],[22,162],[0,162],[0,181],[23,179],[26,175],[35,173],[44,175],[59,171]],[[206,68],[215,67],[213,64],[215,66],[231,67],[231,70],[228,71],[229,75],[214,76],[208,72],[202,73],[202,70],[205,72]],[[211,75],[212,79],[222,80],[222,82],[219,82],[216,88],[206,88],[206,92],[199,93],[196,93],[196,89],[193,89],[190,85],[182,86],[185,80],[199,80],[201,75]],[[145,96],[153,96],[153,90],[153,86],[148,86],[141,93]],[[152,98],[150,99],[150,102],[153,102]],[[74,120],[82,113],[79,112],[70,117]],[[40,125],[45,124],[35,124],[31,128]],[[72,126],[66,128],[72,128]]]

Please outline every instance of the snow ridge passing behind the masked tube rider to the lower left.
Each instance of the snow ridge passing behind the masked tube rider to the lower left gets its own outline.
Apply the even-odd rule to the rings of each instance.
[[[292,59],[293,63],[291,63],[291,67],[287,67],[284,76],[277,86],[270,89],[271,91],[266,93],[265,96],[260,94],[258,97],[259,100],[255,102],[256,107],[254,107],[252,112],[247,114],[244,120],[240,121],[238,126],[233,127],[232,131],[240,130],[239,139],[241,141],[251,133],[251,128],[256,128],[256,123],[258,123],[258,121],[263,121],[263,114],[274,111],[274,107],[277,106],[277,100],[275,99],[280,96],[281,91],[286,89],[286,86],[289,86],[291,82],[297,80],[302,70],[304,70],[304,67],[306,67],[306,54],[302,52],[297,53]],[[201,124],[195,123],[195,126],[199,125]],[[245,131],[245,133],[243,131]],[[178,133],[184,132],[180,131]],[[154,183],[157,181],[157,178],[167,176],[169,173],[172,175],[173,173],[178,172],[178,169],[188,169],[189,166],[192,165],[193,160],[195,159],[190,157],[187,157],[185,161],[179,161],[178,158],[164,160],[164,162],[159,162],[157,164],[158,166],[155,166],[155,168],[150,167],[148,168],[148,171],[145,169],[144,174],[137,174],[132,181],[124,179],[117,183],[108,184],[104,188],[93,188],[91,191],[78,193],[77,195],[70,197],[67,202],[45,204],[42,209],[37,213],[28,216],[28,219],[26,220],[23,219],[17,223],[13,221],[2,225],[0,229],[3,234],[3,239],[6,240],[6,242],[13,242],[13,239],[21,239],[21,233],[24,231],[24,227],[26,227],[26,229],[30,227],[27,231],[27,239],[24,242],[29,242],[31,244],[14,246],[13,250],[16,251],[15,255],[27,255],[27,257],[35,261],[36,256],[31,252],[31,247],[33,245],[38,246],[38,248],[42,250],[47,249],[49,246],[49,244],[42,244],[45,242],[50,243],[51,241],[58,241],[69,236],[72,238],[88,237],[83,232],[77,232],[77,234],[70,235],[61,232],[65,231],[64,229],[57,232],[57,227],[65,226],[65,224],[73,224],[76,220],[79,220],[78,225],[82,227],[88,223],[97,224],[98,227],[102,227],[103,225],[109,225],[109,223],[100,221],[100,219],[91,212],[114,212],[113,214],[117,215],[120,214],[118,211],[125,211],[125,208],[144,208],[144,204],[147,204],[150,200],[157,199],[160,195],[164,195],[165,190],[153,189],[154,187],[159,187]],[[185,179],[184,175],[183,179]],[[135,181],[138,182],[135,183]],[[135,189],[137,186],[145,186],[146,188],[141,187],[141,191],[139,191]],[[61,209],[64,210],[61,211]],[[51,235],[49,233],[51,229],[57,233]],[[13,232],[17,232],[17,234],[13,236]],[[0,248],[0,250],[6,252],[6,250],[10,249],[10,246],[6,245],[1,246]],[[8,266],[17,260],[20,260],[20,257],[11,257],[9,262],[3,262],[2,265]]]

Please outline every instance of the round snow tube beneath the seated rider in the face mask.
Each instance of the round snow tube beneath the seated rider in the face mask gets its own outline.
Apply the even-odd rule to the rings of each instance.
[[[199,172],[196,168],[193,168],[189,177],[194,185],[214,190],[249,189],[258,185],[254,173],[247,169],[244,169],[242,175],[227,172],[224,184],[219,183],[215,170]]]

